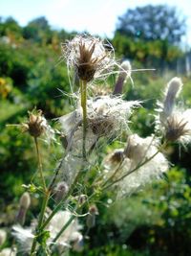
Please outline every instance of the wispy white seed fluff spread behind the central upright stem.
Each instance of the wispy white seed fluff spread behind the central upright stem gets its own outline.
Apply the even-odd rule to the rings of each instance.
[[[87,101],[87,138],[88,143],[92,138],[120,136],[122,130],[127,130],[129,118],[134,108],[140,103],[127,102],[121,97],[99,96]],[[82,114],[78,107],[74,112],[60,118],[60,123],[67,135],[68,144],[81,144],[82,140]],[[90,134],[90,136],[89,136]],[[73,141],[71,143],[71,141]],[[92,142],[91,142],[92,143]],[[91,144],[90,143],[90,144]]]

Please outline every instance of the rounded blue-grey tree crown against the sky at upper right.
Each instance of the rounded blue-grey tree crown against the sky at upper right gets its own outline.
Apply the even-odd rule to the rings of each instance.
[[[167,40],[179,43],[185,34],[185,19],[165,5],[147,5],[127,10],[118,18],[117,32],[143,40]]]

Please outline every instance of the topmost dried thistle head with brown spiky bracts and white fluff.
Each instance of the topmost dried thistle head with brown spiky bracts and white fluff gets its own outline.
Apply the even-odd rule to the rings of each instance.
[[[99,38],[76,35],[63,44],[62,51],[67,65],[74,68],[77,77],[82,81],[92,81],[115,64],[113,52],[108,51],[107,46]]]

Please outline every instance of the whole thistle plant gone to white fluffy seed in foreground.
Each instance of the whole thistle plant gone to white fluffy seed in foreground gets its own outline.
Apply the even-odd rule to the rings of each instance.
[[[129,196],[161,178],[169,169],[164,155],[167,145],[176,141],[185,144],[191,138],[191,110],[176,106],[182,88],[180,79],[169,81],[158,103],[155,134],[141,138],[133,133],[130,122],[141,107],[141,99],[126,101],[122,94],[125,80],[131,80],[130,62],[117,63],[110,44],[87,35],[76,35],[64,43],[62,55],[69,76],[79,84],[76,91],[77,84],[71,86],[74,110],[58,117],[59,132],[48,125],[41,110],[30,112],[29,120],[20,126],[32,136],[40,178],[39,187],[33,183],[24,186],[27,192],[20,198],[17,221],[12,227],[20,255],[81,251],[83,240],[99,218],[97,201],[102,195],[115,189],[114,198]],[[113,93],[94,96],[92,86],[96,88],[96,81],[105,82],[113,72],[118,73]],[[43,170],[39,139],[44,136],[55,141],[55,134],[60,135],[64,147],[50,180]],[[115,141],[121,147],[105,153]],[[39,193],[41,210],[26,227],[33,190]],[[82,226],[80,220],[84,219],[86,224]],[[4,237],[2,231],[1,243]],[[11,253],[14,255],[13,249]]]

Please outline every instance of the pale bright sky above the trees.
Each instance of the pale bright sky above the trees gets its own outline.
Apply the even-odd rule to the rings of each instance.
[[[117,16],[128,8],[146,4],[176,6],[188,18],[188,40],[191,42],[191,0],[0,0],[0,15],[11,15],[21,25],[43,15],[53,28],[112,36]]]

